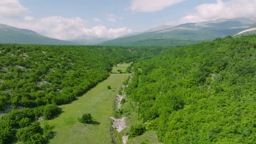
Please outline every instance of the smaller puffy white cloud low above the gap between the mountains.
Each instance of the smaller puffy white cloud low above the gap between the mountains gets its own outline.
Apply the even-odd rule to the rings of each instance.
[[[121,35],[132,32],[131,29],[126,27],[108,29],[105,26],[95,26],[89,29],[84,28],[83,30],[87,35],[92,35],[94,37],[103,37],[103,38],[118,38]]]

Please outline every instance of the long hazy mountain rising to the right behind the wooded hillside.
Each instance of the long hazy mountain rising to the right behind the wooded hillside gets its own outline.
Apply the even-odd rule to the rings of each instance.
[[[100,45],[174,46],[209,41],[244,31],[256,25],[256,18],[218,19],[178,26],[160,26],[144,33],[108,40]]]

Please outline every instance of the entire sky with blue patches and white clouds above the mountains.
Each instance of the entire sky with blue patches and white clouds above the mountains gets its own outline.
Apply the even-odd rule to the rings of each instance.
[[[256,0],[0,0],[0,23],[62,40],[255,16]]]

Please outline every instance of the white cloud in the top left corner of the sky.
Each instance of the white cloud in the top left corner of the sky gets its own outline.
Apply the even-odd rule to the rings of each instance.
[[[13,18],[25,15],[28,10],[24,8],[19,0],[1,0],[0,17]]]

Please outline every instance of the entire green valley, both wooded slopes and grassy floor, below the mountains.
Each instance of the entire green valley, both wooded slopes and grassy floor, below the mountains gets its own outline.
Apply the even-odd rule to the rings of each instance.
[[[168,48],[2,44],[0,143],[255,143],[255,54],[255,35]],[[130,74],[110,74],[125,72],[118,63]],[[79,123],[85,112],[94,119]]]

